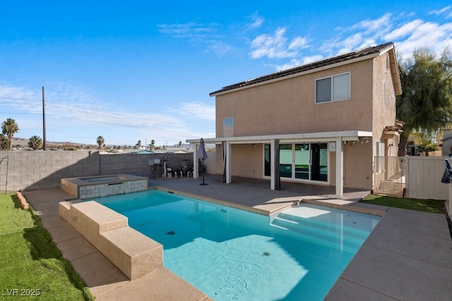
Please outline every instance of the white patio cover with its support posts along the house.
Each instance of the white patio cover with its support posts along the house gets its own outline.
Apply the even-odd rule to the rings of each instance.
[[[284,135],[263,135],[263,136],[243,136],[243,137],[218,137],[204,139],[206,144],[222,145],[224,154],[224,174],[226,183],[231,183],[231,145],[247,144],[247,143],[267,143],[270,144],[270,156],[276,158],[275,145],[283,144],[285,142],[335,142],[335,156],[336,156],[336,195],[338,199],[342,199],[344,193],[344,155],[343,142],[357,141],[360,137],[372,137],[371,132],[362,130],[344,130],[337,132],[321,132],[321,133],[299,133],[299,134],[284,134]],[[194,162],[198,160],[198,146],[199,139],[189,139],[189,142],[194,149]],[[275,190],[278,187],[278,174],[275,168],[276,164],[271,164],[270,171],[270,189]],[[198,178],[198,166],[194,164],[194,178]]]

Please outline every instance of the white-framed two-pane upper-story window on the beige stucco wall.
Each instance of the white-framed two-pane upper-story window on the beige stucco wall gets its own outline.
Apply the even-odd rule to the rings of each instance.
[[[316,80],[316,103],[350,99],[350,73]]]

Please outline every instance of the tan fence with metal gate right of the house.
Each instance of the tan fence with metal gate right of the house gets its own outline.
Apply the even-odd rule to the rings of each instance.
[[[374,192],[415,199],[448,199],[448,185],[441,183],[442,156],[375,157]]]

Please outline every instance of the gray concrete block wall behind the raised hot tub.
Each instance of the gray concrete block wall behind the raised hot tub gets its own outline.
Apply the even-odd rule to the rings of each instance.
[[[179,168],[188,160],[193,166],[193,154],[99,154],[97,151],[0,151],[0,191],[40,190],[60,188],[61,178],[105,176],[129,173],[148,178],[160,178],[163,157],[167,166]],[[149,159],[161,164],[148,166]]]

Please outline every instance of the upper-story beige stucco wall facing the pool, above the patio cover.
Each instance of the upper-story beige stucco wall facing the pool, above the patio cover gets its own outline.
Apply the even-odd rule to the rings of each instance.
[[[216,97],[216,137],[234,118],[234,137],[372,130],[371,61],[280,80]],[[350,72],[350,100],[315,103],[315,80]]]

